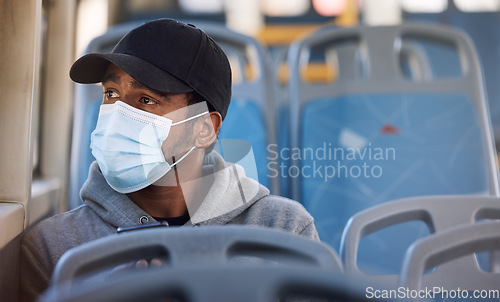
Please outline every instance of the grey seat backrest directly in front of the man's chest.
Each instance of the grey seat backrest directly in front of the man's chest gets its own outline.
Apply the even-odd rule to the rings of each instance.
[[[99,269],[151,258],[163,259],[172,268],[225,266],[250,259],[250,266],[263,262],[343,270],[328,245],[284,231],[241,225],[163,227],[108,236],[66,252],[51,284],[70,284]]]

